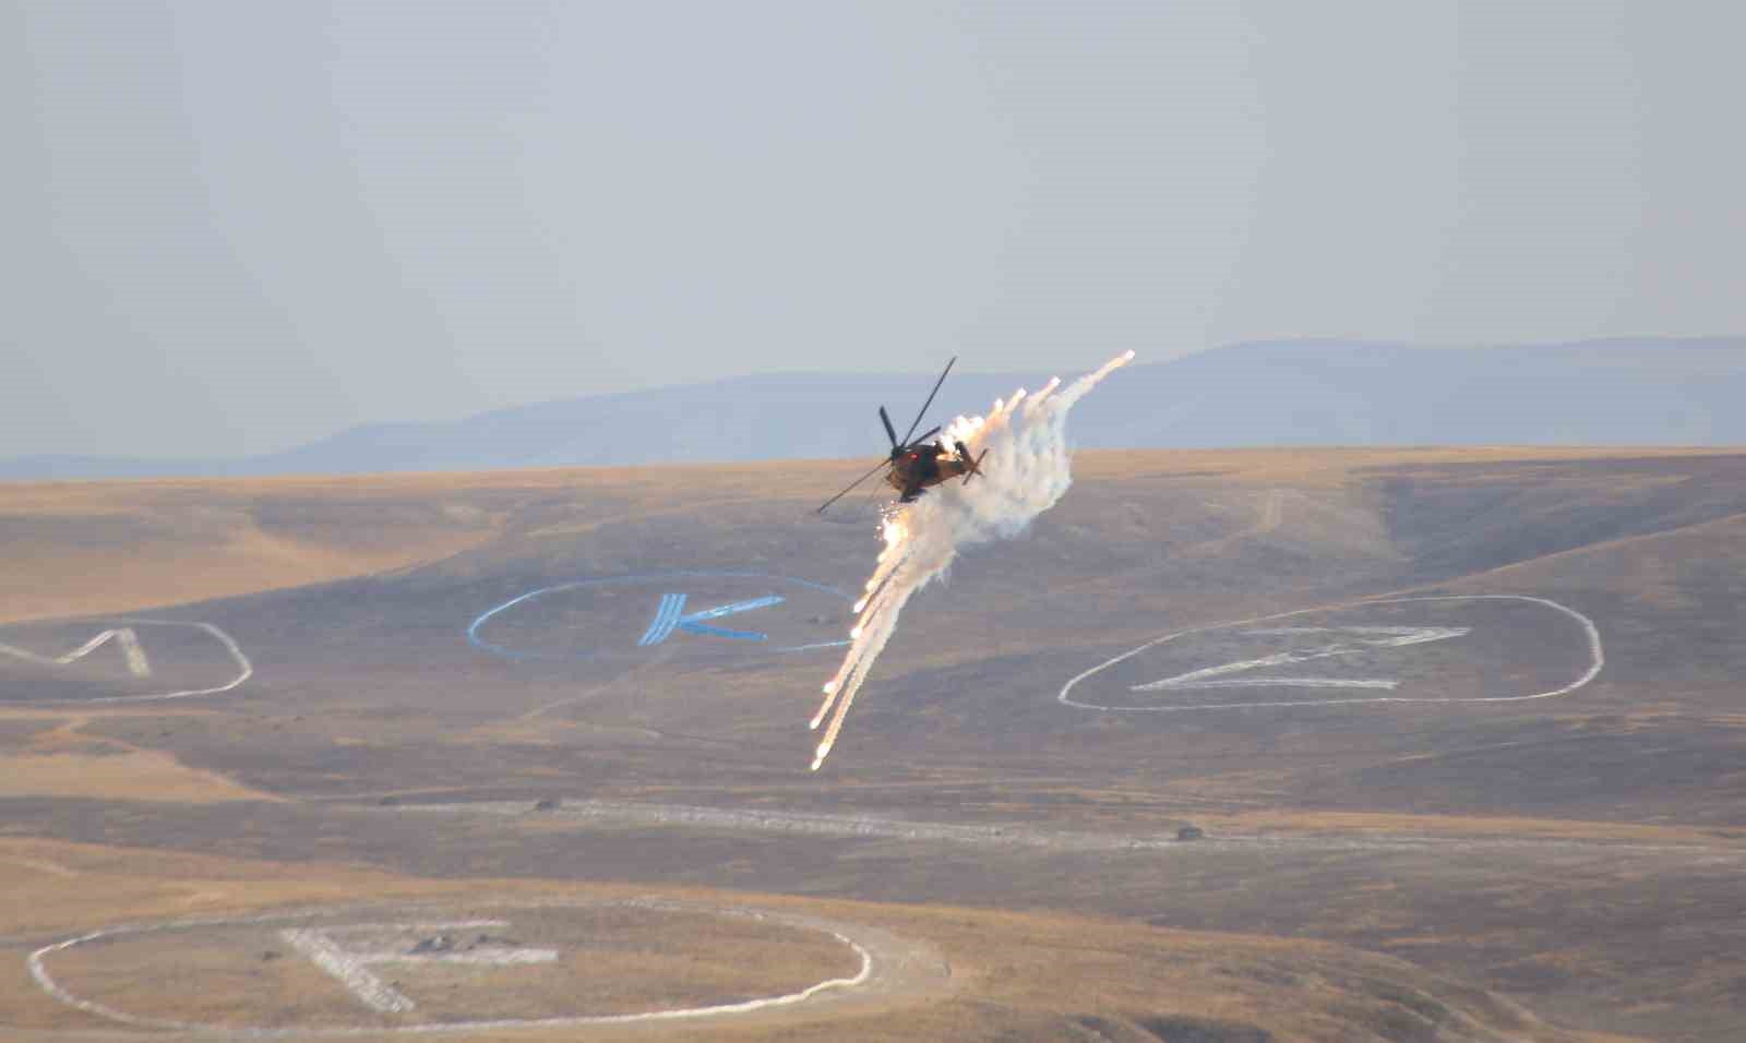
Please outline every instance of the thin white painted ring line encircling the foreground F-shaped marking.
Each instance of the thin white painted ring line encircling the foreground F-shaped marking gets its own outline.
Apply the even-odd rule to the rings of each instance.
[[[492,903],[492,902],[484,902],[484,903],[485,905],[498,905],[498,907],[510,907],[510,909],[602,909],[602,907],[648,909],[648,910],[655,910],[655,912],[691,912],[691,914],[714,914],[714,916],[739,916],[739,917],[747,917],[747,919],[770,921],[770,923],[779,923],[779,924],[786,924],[786,926],[791,926],[791,928],[800,928],[800,930],[810,930],[810,931],[826,933],[826,935],[836,938],[838,942],[842,942],[843,945],[847,945],[859,958],[861,968],[850,978],[828,978],[828,980],[817,982],[814,985],[807,985],[805,989],[801,989],[798,992],[787,992],[784,996],[770,996],[770,998],[763,998],[763,999],[746,999],[742,1003],[719,1003],[719,1005],[714,1005],[714,1006],[686,1006],[686,1008],[674,1008],[674,1010],[651,1010],[651,1012],[646,1012],[646,1013],[616,1013],[616,1015],[573,1015],[573,1017],[543,1017],[543,1019],[491,1019],[491,1020],[470,1020],[470,1022],[423,1022],[423,1024],[410,1024],[410,1026],[368,1026],[368,1027],[365,1027],[365,1026],[356,1026],[356,1027],[353,1027],[353,1026],[344,1026],[344,1027],[311,1026],[311,1027],[267,1029],[267,1027],[210,1026],[210,1024],[196,1024],[196,1022],[178,1022],[178,1020],[169,1020],[169,1019],[140,1017],[140,1015],[133,1015],[133,1013],[127,1013],[127,1012],[122,1012],[122,1010],[115,1010],[113,1006],[107,1006],[103,1003],[96,1003],[96,1001],[91,1001],[91,999],[82,999],[82,998],[75,996],[73,992],[70,992],[68,989],[65,989],[59,982],[56,982],[52,975],[49,975],[47,958],[52,956],[52,954],[56,954],[56,952],[72,949],[73,945],[82,945],[86,942],[98,942],[98,940],[103,940],[103,938],[115,938],[115,937],[122,937],[122,935],[143,935],[143,933],[152,933],[152,931],[189,930],[189,928],[272,924],[272,923],[285,923],[288,919],[306,919],[309,916],[332,916],[333,910],[307,910],[307,912],[300,912],[300,914],[283,914],[281,912],[281,914],[251,916],[251,917],[227,917],[227,919],[185,919],[185,921],[155,923],[155,924],[122,924],[122,926],[113,926],[113,928],[103,928],[103,930],[89,931],[86,935],[79,935],[79,937],[73,937],[73,938],[65,938],[61,942],[54,942],[51,945],[44,945],[44,947],[33,951],[24,959],[24,963],[30,968],[30,977],[35,978],[37,985],[44,992],[47,992],[49,996],[52,996],[54,999],[59,999],[61,1003],[65,1003],[68,1006],[73,1006],[77,1010],[84,1010],[86,1013],[93,1013],[96,1017],[108,1019],[108,1020],[113,1020],[113,1022],[120,1022],[120,1024],[126,1024],[126,1026],[138,1026],[138,1027],[148,1027],[148,1029],[175,1029],[175,1031],[182,1031],[182,1033],[229,1033],[232,1036],[243,1036],[243,1038],[250,1038],[250,1040],[283,1040],[283,1038],[295,1038],[295,1036],[377,1036],[377,1034],[388,1034],[388,1033],[410,1033],[410,1034],[478,1033],[478,1031],[489,1031],[489,1029],[587,1027],[587,1026],[622,1026],[622,1024],[637,1024],[637,1022],[665,1022],[665,1020],[705,1019],[705,1017],[719,1017],[719,1015],[730,1015],[730,1013],[751,1013],[754,1010],[766,1010],[766,1008],[779,1008],[779,1006],[793,1006],[793,1005],[814,999],[815,996],[819,996],[822,992],[828,992],[828,991],[861,987],[861,985],[866,985],[870,980],[873,980],[873,975],[875,975],[875,970],[876,970],[876,965],[873,961],[873,954],[864,945],[861,945],[859,942],[856,942],[854,938],[849,937],[847,931],[852,930],[852,928],[845,926],[843,930],[836,930],[836,924],[831,924],[829,921],[821,921],[821,919],[810,917],[810,916],[779,914],[779,912],[765,912],[765,910],[756,910],[756,909],[735,909],[735,907],[700,907],[700,905],[688,905],[688,903],[681,903],[681,902],[660,902],[660,900],[627,900],[627,902],[526,902],[526,900],[524,902],[513,902],[513,900],[510,900],[510,902],[503,902],[503,903]],[[461,921],[461,923],[482,923],[484,924],[487,921]],[[489,921],[489,923],[501,924],[501,921]],[[351,928],[367,928],[367,926],[395,926],[395,924],[351,924]],[[320,928],[320,930],[316,930],[313,933],[321,933],[321,931],[340,933],[340,931],[346,931],[346,930],[349,930],[349,928],[347,926],[337,926],[337,928],[330,926],[330,928]],[[887,945],[889,945],[889,942],[887,942]],[[347,954],[347,956],[356,958],[356,954]],[[388,985],[382,985],[382,987],[388,989]],[[393,992],[393,991],[389,989],[389,992]],[[398,992],[395,992],[395,994],[398,996]],[[410,1003],[410,999],[407,1003]]]

